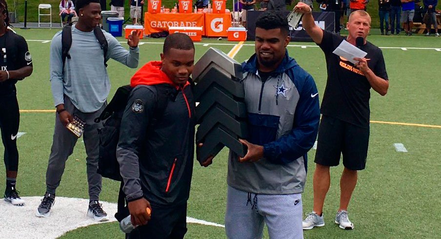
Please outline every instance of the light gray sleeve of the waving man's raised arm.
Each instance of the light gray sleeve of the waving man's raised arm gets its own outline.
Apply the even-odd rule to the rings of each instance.
[[[120,63],[130,67],[130,68],[137,68],[138,67],[138,61],[140,58],[140,48],[131,48],[129,47],[129,50],[126,50],[124,47],[121,46],[120,42],[110,35],[107,32],[104,32],[104,35],[107,39],[107,43],[109,45],[108,51],[107,51],[107,58],[113,59],[116,61],[119,61]]]

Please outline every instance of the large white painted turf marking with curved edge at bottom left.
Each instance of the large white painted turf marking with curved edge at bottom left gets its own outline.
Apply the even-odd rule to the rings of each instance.
[[[89,226],[103,222],[94,221],[87,216],[89,199],[56,197],[48,218],[37,218],[35,213],[40,205],[38,197],[21,197],[25,201],[24,206],[13,206],[9,202],[0,200],[0,237],[8,239],[22,238],[47,238],[55,239],[68,231],[80,227]],[[104,211],[107,213],[107,222],[116,221],[115,213],[117,204],[100,201]],[[214,222],[204,221],[187,217],[188,223],[224,227]],[[104,222],[105,223],[105,222]],[[117,225],[115,225],[117,226]]]

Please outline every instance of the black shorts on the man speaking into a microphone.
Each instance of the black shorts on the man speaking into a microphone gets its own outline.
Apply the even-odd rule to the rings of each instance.
[[[323,115],[319,126],[315,163],[337,166],[343,155],[343,165],[350,170],[363,170],[366,166],[369,127]]]

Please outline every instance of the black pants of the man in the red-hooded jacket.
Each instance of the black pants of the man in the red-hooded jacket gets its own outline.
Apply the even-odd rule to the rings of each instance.
[[[183,239],[187,232],[187,204],[157,208],[152,205],[150,221],[126,234],[126,239]]]

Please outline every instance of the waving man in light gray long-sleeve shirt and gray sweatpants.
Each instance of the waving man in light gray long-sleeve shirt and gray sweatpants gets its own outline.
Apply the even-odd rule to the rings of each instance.
[[[77,0],[78,23],[72,25],[70,59],[64,67],[61,57],[61,31],[51,43],[50,80],[57,113],[51,153],[46,171],[46,193],[36,212],[37,217],[48,217],[55,200],[55,190],[60,185],[65,162],[72,154],[78,138],[66,125],[77,115],[86,125],[83,140],[86,149],[87,181],[89,185],[89,209],[87,215],[98,221],[107,220],[101,208],[101,176],[98,168],[98,131],[101,123],[94,119],[106,107],[110,91],[110,80],[104,65],[104,51],[94,34],[101,20],[100,0]],[[136,68],[139,60],[139,36],[133,32],[127,40],[126,50],[112,35],[103,31],[108,43],[107,58],[112,58],[130,68]]]

